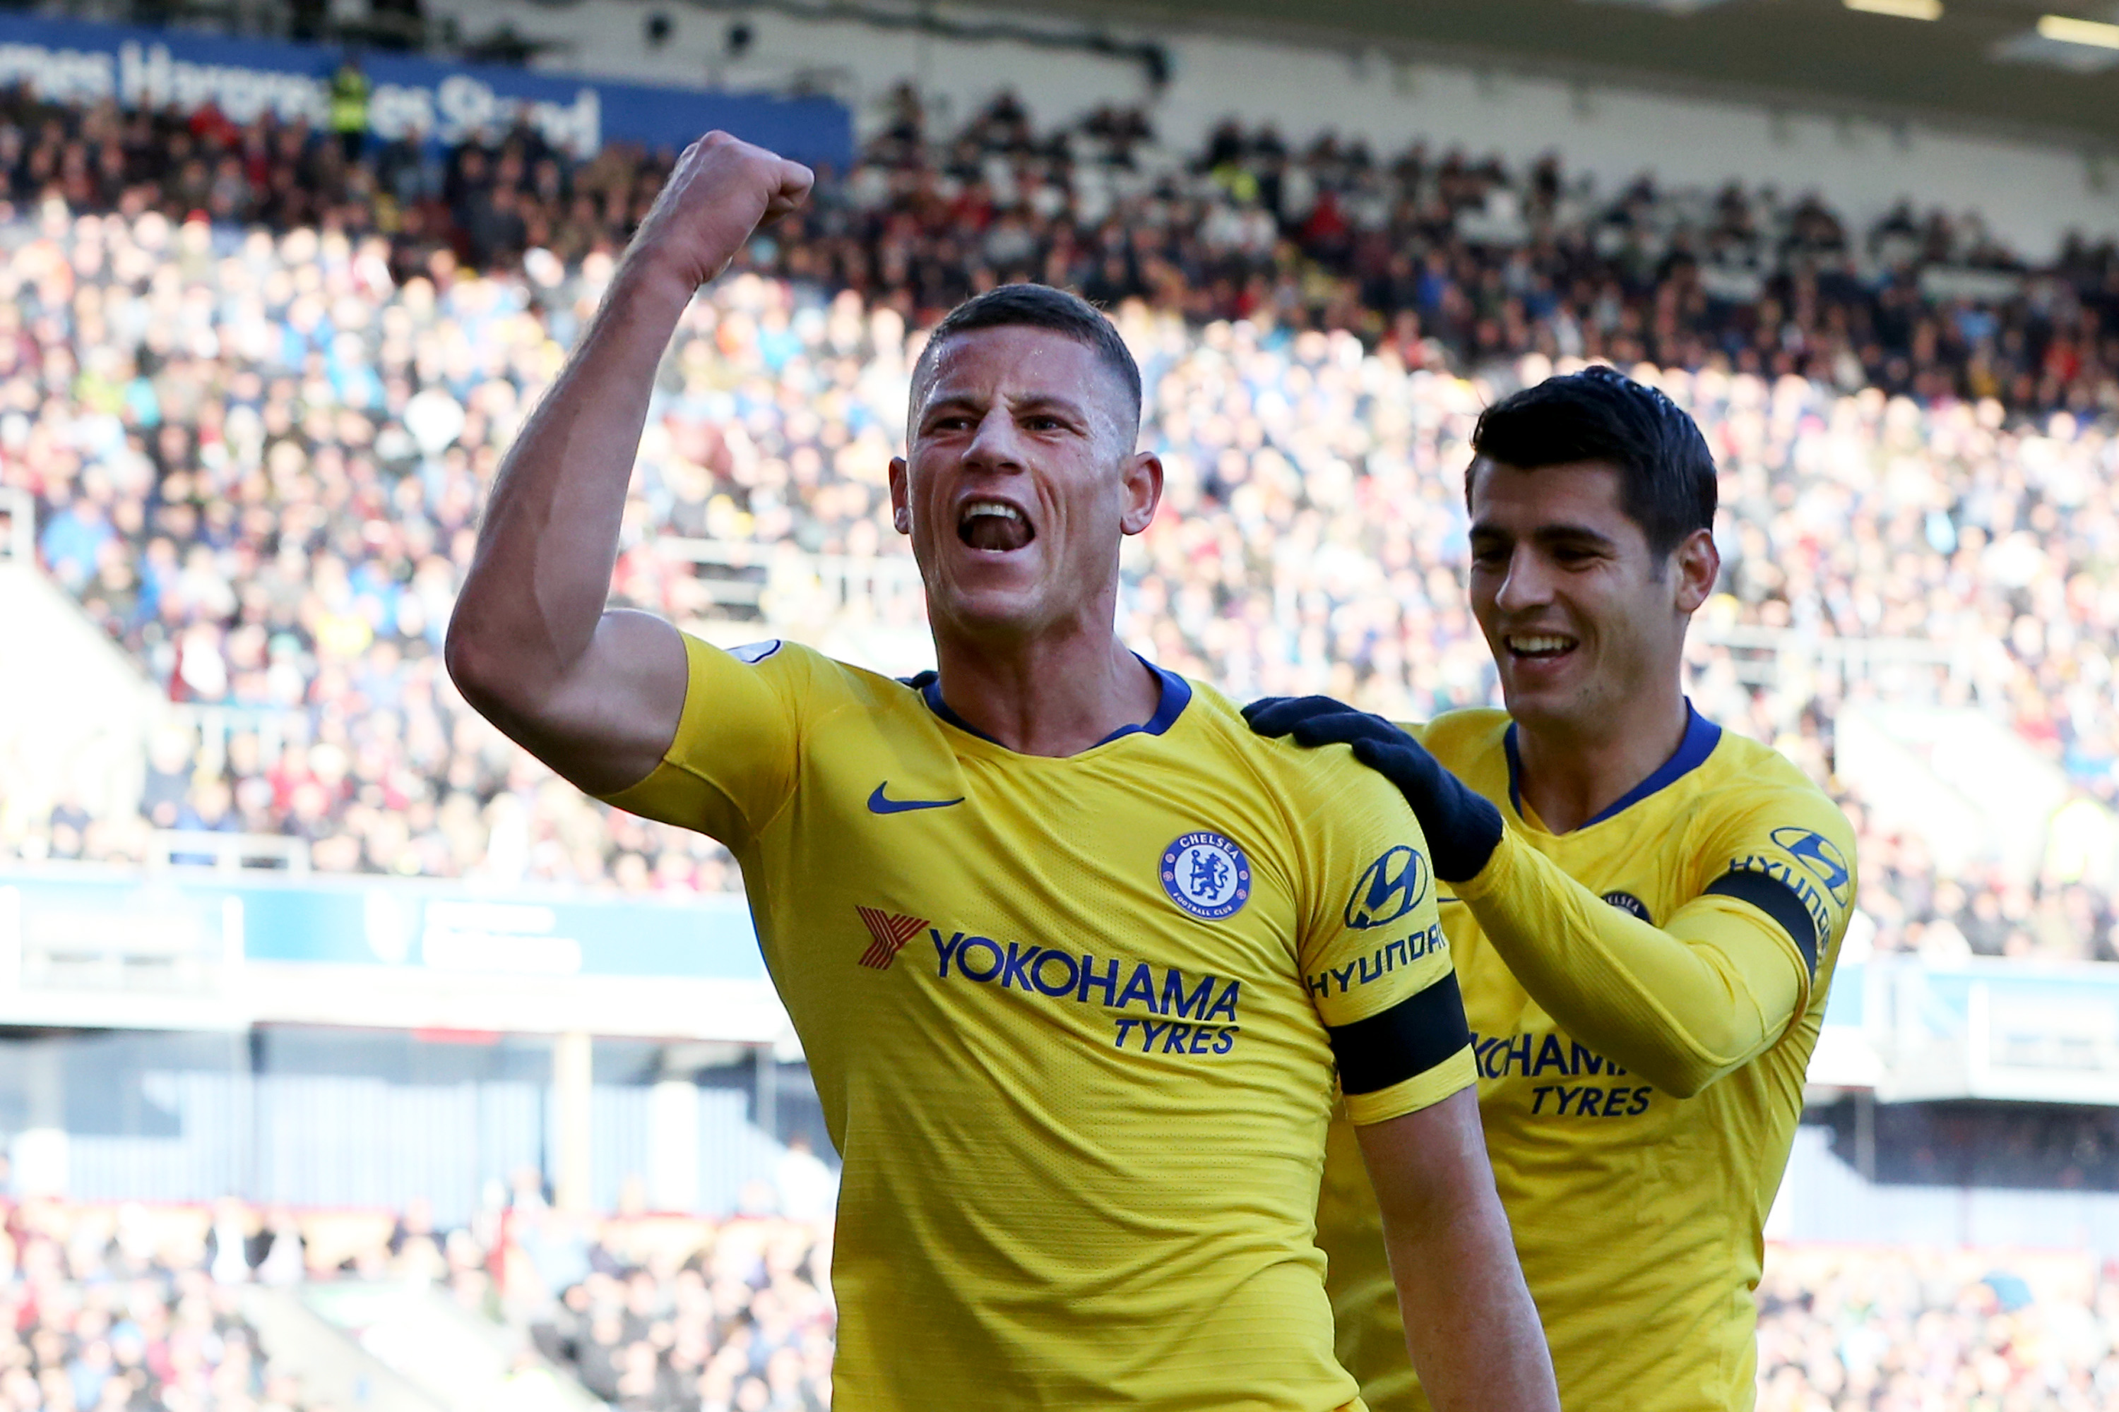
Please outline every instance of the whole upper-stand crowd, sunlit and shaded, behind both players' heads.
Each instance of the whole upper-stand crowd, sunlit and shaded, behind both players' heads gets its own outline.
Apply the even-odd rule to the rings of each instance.
[[[286,834],[335,872],[735,887],[718,845],[583,800],[439,665],[483,491],[653,199],[655,161],[572,163],[517,131],[348,167],[265,121],[8,104],[0,485],[34,497],[51,576],[184,709],[150,747],[140,817],[0,790],[0,851],[140,857],[150,828],[184,828]],[[155,144],[174,157],[157,165]],[[547,186],[521,241],[464,243],[477,199]],[[1687,224],[1695,207],[1712,222]],[[1379,277],[1379,252],[1413,269]],[[687,313],[615,586],[684,622],[740,603],[750,622],[716,627],[725,641],[793,624],[926,665],[918,595],[848,595],[816,569],[907,582],[886,468],[920,324],[994,279],[1049,277],[1112,303],[1168,468],[1127,555],[1127,637],[1235,696],[1329,690],[1420,718],[1494,692],[1460,586],[1479,406],[1587,356],[1653,356],[1672,366],[1636,375],[1699,417],[1723,470],[1704,711],[1833,781],[1850,701],[1981,703],[2108,802],[2104,263],[2070,246],[2030,273],[1973,222],[1850,243],[1829,212],[1769,193],[1644,184],[1598,205],[1551,167],[1511,184],[1494,163],[1290,155],[1235,129],[1176,161],[1125,114],[1036,138],[1007,99],[930,142],[907,97],[814,212]],[[2024,298],[1922,292],[1969,265]],[[1740,269],[1752,294],[1710,294]],[[1986,328],[1977,356],[1949,362],[1964,341],[1939,324]],[[1973,375],[2032,351],[2034,375]],[[672,536],[754,565],[701,567]],[[1746,629],[1782,633],[1776,652],[1933,648],[1901,677],[1782,663],[1761,686],[1757,652],[1729,646]],[[1848,804],[1865,946],[2113,957],[2108,857],[1939,879],[1918,832]]]

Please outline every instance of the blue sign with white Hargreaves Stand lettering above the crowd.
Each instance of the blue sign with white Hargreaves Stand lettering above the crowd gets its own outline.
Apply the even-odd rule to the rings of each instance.
[[[341,57],[324,44],[0,15],[0,85],[28,83],[57,102],[182,112],[212,104],[235,123],[271,112],[322,125]],[[807,163],[843,167],[854,155],[852,114],[831,97],[706,93],[381,53],[362,55],[360,66],[373,85],[369,129],[384,140],[417,133],[456,144],[523,119],[576,157],[606,142],[678,150],[714,127]]]

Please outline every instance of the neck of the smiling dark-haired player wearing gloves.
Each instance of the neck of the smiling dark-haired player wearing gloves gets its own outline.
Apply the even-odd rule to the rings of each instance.
[[[1545,828],[1568,834],[1623,800],[1678,754],[1687,724],[1689,709],[1676,682],[1668,692],[1636,696],[1623,711],[1593,722],[1519,720],[1517,796]]]

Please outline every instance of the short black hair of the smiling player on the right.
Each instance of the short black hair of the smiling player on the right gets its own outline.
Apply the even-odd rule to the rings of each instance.
[[[1471,449],[1515,470],[1570,461],[1617,466],[1619,508],[1640,525],[1657,557],[1695,529],[1714,529],[1714,453],[1699,423],[1617,368],[1583,368],[1511,392],[1479,413]],[[1475,459],[1464,472],[1466,508],[1477,470]]]

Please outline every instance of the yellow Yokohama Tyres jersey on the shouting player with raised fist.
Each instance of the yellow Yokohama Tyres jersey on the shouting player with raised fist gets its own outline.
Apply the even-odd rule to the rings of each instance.
[[[1314,1243],[1335,1071],[1360,1122],[1473,1084],[1396,792],[1170,673],[1053,760],[932,673],[687,652],[612,802],[742,862],[845,1162],[835,1406],[1358,1406]]]

